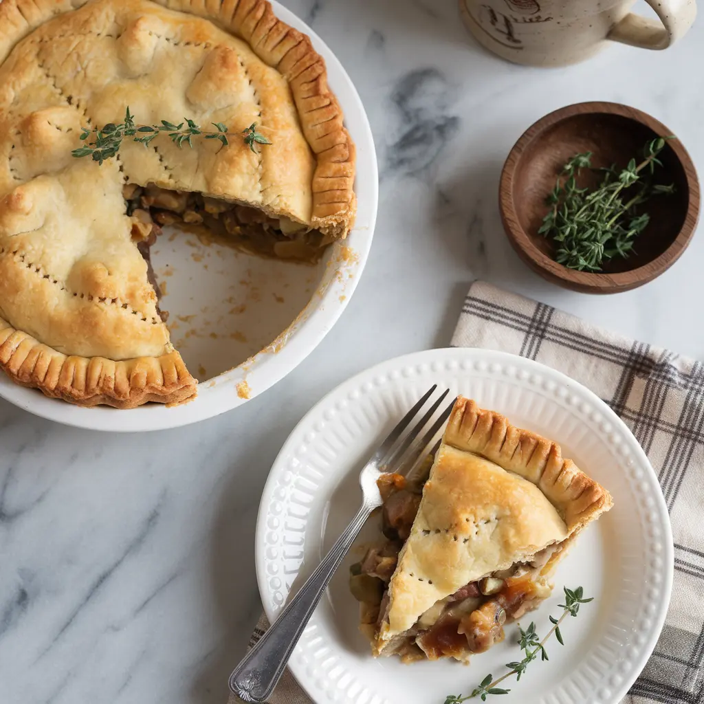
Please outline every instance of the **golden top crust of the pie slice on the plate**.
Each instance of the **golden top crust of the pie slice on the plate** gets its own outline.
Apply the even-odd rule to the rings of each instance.
[[[460,396],[389,583],[375,652],[436,601],[565,543],[611,506],[557,443]]]

